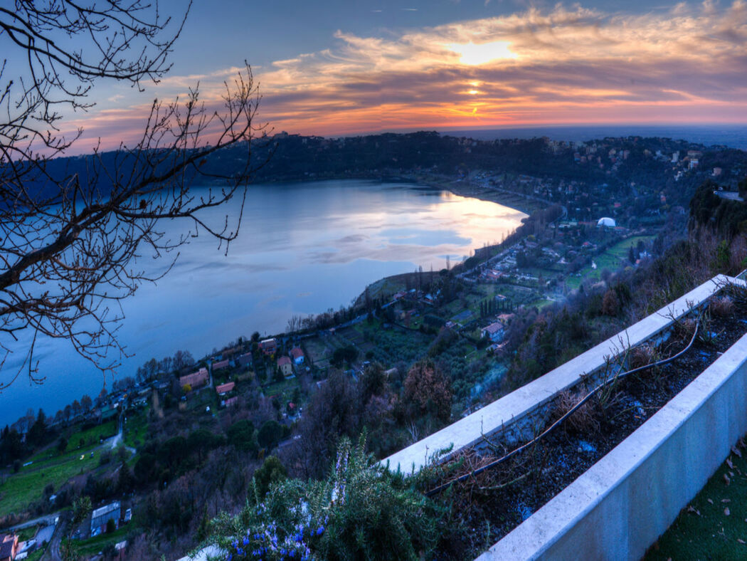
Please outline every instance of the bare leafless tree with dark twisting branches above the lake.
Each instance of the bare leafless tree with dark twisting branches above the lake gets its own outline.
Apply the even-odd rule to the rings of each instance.
[[[227,251],[238,234],[254,171],[252,138],[264,135],[248,65],[225,84],[220,110],[200,102],[197,89],[184,100],[156,100],[134,146],[114,154],[96,149],[82,166],[52,162],[81,134],[61,133],[61,111],[90,108],[97,79],[140,89],[143,81],[158,82],[182,25],[140,0],[0,7],[0,52],[8,56],[0,67],[0,373],[16,347],[25,353],[22,366],[0,378],[0,390],[23,371],[43,381],[34,359],[39,334],[65,338],[97,367],[113,370],[126,355],[116,337],[119,301],[161,278],[138,258],[160,257],[198,233]],[[17,75],[7,76],[11,67]],[[231,171],[214,171],[211,155],[229,147]],[[212,187],[196,193],[195,181]],[[199,211],[232,198],[241,203],[238,215],[217,226],[203,221]],[[188,227],[173,238],[162,223],[175,218]],[[28,346],[19,338],[24,333]]]

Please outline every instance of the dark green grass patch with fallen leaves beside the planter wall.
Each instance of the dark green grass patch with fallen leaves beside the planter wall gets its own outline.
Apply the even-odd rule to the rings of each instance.
[[[747,450],[732,453],[645,561],[747,559]],[[731,462],[731,466],[728,465]],[[728,477],[728,484],[727,479]]]

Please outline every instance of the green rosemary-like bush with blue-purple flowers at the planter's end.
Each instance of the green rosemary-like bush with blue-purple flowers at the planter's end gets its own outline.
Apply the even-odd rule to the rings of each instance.
[[[233,560],[419,560],[429,558],[445,514],[409,480],[343,439],[323,481],[288,479],[264,501],[211,524],[211,542]]]

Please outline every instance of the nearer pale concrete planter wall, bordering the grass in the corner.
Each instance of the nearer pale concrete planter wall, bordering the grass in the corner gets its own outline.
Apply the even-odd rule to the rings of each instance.
[[[478,558],[639,560],[747,432],[747,335]]]

